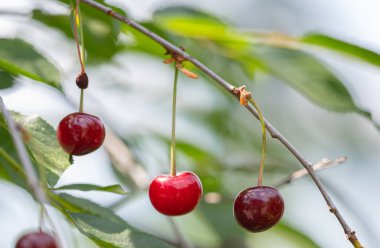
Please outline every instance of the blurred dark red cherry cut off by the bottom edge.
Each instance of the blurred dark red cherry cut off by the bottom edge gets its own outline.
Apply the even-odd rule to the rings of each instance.
[[[57,248],[54,238],[44,232],[28,233],[22,236],[16,244],[16,248]]]

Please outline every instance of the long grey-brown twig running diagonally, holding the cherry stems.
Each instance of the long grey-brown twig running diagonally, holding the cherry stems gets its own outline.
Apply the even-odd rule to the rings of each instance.
[[[83,3],[121,21],[126,24],[128,24],[130,27],[136,29],[137,31],[145,34],[146,36],[150,37],[152,40],[156,41],[160,45],[162,45],[167,51],[170,51],[172,53],[179,54],[183,56],[186,60],[190,61],[192,64],[194,64],[196,67],[198,67],[201,71],[203,71],[205,74],[207,74],[209,77],[214,79],[220,86],[222,86],[224,89],[226,89],[228,92],[230,92],[235,97],[238,97],[236,93],[234,92],[235,87],[221,78],[218,74],[213,72],[211,69],[209,69],[207,66],[205,66],[203,63],[198,61],[197,59],[193,58],[186,52],[184,52],[182,49],[180,49],[177,46],[174,46],[169,41],[165,40],[161,36],[153,33],[152,31],[148,30],[147,28],[143,27],[142,25],[138,24],[137,22],[132,21],[131,19],[127,18],[126,16],[123,16],[119,13],[116,13],[111,8],[101,4],[97,3],[93,0],[81,0]],[[259,119],[259,115],[257,111],[253,108],[252,105],[247,105],[246,108],[257,118]],[[319,178],[314,173],[311,163],[308,162],[301,153],[293,146],[292,143],[290,143],[279,131],[277,131],[276,128],[274,128],[267,120],[265,120],[265,126],[268,132],[271,134],[272,138],[278,139],[296,158],[297,160],[302,164],[302,166],[305,167],[311,178],[313,179],[314,183],[317,185],[319,191],[321,192],[323,198],[325,199],[329,210],[331,213],[333,213],[336,218],[338,219],[339,223],[341,224],[345,234],[347,235],[348,240],[352,243],[352,245],[355,248],[361,248],[363,247],[358,238],[356,237],[355,232],[350,228],[350,226],[347,224],[343,216],[341,215],[340,211],[335,206],[334,202],[330,198],[329,194],[327,193],[325,187],[322,185]]]

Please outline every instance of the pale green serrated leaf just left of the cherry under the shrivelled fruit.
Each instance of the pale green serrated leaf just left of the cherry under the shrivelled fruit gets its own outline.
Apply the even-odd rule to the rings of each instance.
[[[59,146],[54,128],[38,116],[24,116],[16,112],[11,114],[29,136],[26,145],[32,158],[46,169],[47,181],[54,186],[70,166],[69,154]]]

